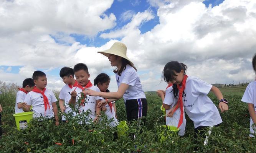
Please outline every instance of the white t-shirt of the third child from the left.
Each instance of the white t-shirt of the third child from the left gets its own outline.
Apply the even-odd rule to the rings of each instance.
[[[71,92],[71,88],[69,88],[68,85],[63,86],[59,93],[59,99],[64,100],[64,106],[66,107],[64,113],[73,112],[73,116],[76,116],[76,112],[74,112],[72,108],[69,107],[68,105],[68,102],[71,98],[70,92]],[[62,116],[62,120],[66,120],[66,117],[64,115]]]

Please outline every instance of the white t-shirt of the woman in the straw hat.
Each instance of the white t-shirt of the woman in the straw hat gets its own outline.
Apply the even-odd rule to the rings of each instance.
[[[129,85],[129,88],[123,95],[125,100],[146,98],[145,93],[142,90],[139,75],[129,64],[126,65],[126,69],[122,71],[121,76],[116,73],[116,83],[118,88],[121,83]]]

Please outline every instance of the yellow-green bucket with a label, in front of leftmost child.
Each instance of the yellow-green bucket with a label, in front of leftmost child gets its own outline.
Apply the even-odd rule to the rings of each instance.
[[[26,127],[28,127],[28,123],[33,118],[33,114],[34,112],[21,112],[13,114],[15,117],[17,130],[26,129]]]

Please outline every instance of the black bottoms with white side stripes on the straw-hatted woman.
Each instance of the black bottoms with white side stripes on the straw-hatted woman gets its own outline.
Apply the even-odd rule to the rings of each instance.
[[[147,99],[127,99],[125,105],[128,122],[147,116]]]

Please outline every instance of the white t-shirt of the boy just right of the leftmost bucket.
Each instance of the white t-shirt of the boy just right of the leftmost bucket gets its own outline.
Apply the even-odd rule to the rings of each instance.
[[[53,91],[46,89],[45,90],[45,96],[48,98],[49,104],[50,104],[50,109],[47,107],[45,111],[45,104],[43,101],[43,95],[41,93],[36,93],[34,91],[30,91],[25,99],[24,102],[27,103],[28,105],[33,106],[33,117],[53,117],[53,106],[51,103],[55,103],[57,101]]]

